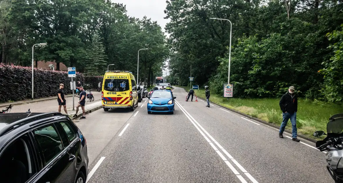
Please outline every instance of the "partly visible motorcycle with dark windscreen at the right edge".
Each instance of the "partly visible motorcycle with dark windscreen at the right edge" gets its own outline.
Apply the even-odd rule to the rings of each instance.
[[[326,155],[327,169],[335,183],[343,183],[343,113],[329,118],[327,134],[316,131],[313,136],[327,135],[322,141],[316,142],[320,151],[328,150]]]

